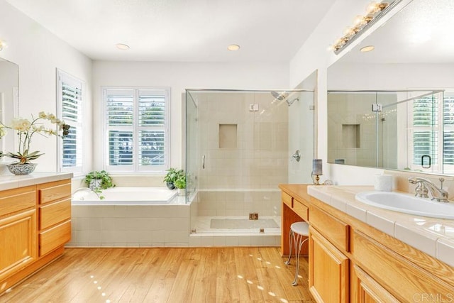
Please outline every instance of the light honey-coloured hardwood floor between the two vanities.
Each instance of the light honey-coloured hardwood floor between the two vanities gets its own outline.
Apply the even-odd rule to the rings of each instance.
[[[314,302],[279,248],[67,248],[0,302]]]

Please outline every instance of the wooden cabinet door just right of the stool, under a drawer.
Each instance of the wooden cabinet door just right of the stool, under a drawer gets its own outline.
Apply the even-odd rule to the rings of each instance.
[[[348,258],[309,229],[309,290],[317,302],[348,302]]]

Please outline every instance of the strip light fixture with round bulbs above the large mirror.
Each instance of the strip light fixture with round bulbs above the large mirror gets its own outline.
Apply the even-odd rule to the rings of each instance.
[[[341,53],[341,50],[347,45],[352,43],[356,38],[360,36],[367,28],[370,28],[372,24],[377,22],[382,16],[390,11],[394,6],[397,6],[402,0],[386,0],[386,1],[372,1],[366,9],[364,16],[356,16],[353,20],[353,26],[347,28],[343,36],[336,40],[331,45],[331,50],[337,55]]]

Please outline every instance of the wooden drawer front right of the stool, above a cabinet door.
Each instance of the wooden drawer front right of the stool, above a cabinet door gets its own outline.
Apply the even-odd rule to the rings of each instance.
[[[337,248],[348,251],[348,224],[339,221],[321,209],[311,207],[311,225]]]

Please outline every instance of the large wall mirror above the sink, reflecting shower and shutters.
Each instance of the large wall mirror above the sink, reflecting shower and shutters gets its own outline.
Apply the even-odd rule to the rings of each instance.
[[[452,16],[413,0],[328,68],[328,162],[454,175]]]

